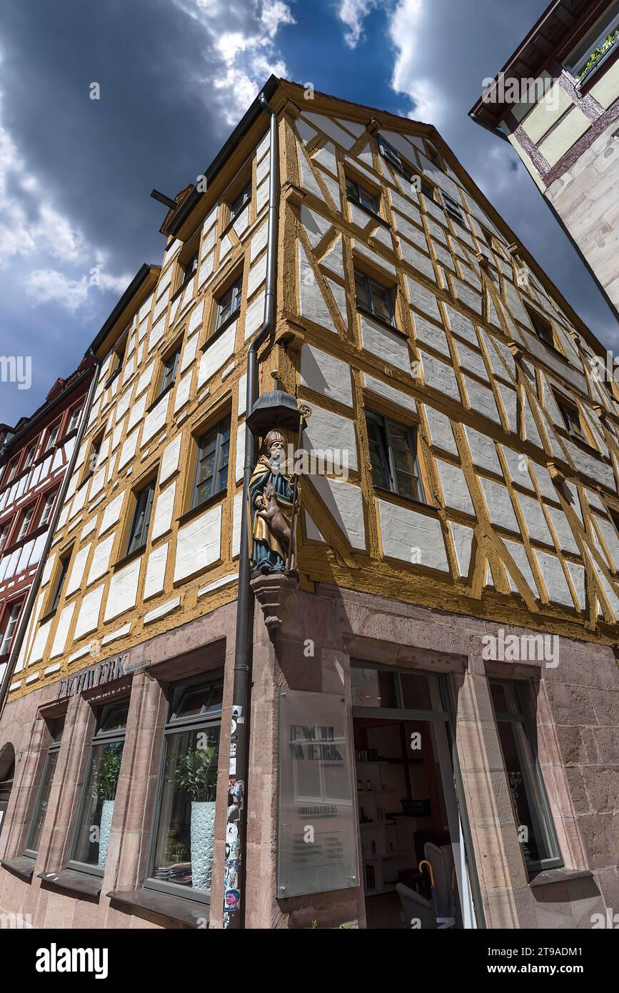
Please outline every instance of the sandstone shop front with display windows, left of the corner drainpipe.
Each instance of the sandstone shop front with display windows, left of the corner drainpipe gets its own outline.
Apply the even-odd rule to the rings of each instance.
[[[18,762],[3,911],[36,927],[209,925],[222,897],[229,614],[211,618],[215,638],[186,634],[199,648],[166,657],[171,639],[153,638],[7,705]]]

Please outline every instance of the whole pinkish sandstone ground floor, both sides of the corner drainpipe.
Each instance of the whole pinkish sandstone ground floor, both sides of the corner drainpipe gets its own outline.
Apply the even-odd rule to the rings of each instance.
[[[280,580],[256,590],[245,713],[235,603],[9,699],[0,912],[44,928],[221,927],[239,901],[250,928],[606,920],[613,649],[334,586],[284,592],[286,608]],[[249,774],[229,804],[239,719]]]

